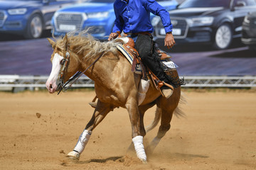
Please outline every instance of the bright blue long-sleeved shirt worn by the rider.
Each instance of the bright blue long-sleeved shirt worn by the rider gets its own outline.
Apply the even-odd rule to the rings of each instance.
[[[150,22],[150,13],[160,16],[166,33],[172,31],[171,19],[166,9],[155,0],[116,0],[114,1],[113,33],[117,31],[124,33],[153,33],[153,26]]]

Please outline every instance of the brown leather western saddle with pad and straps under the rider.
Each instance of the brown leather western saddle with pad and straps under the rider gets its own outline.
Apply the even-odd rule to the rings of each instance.
[[[139,53],[134,48],[134,40],[132,40],[132,38],[122,37],[118,39],[122,40],[124,43],[122,45],[117,45],[117,49],[120,52],[122,52],[124,57],[126,57],[127,60],[132,64],[132,72],[142,74],[142,79],[144,80],[146,80],[147,75],[149,75],[151,80],[153,80],[154,86],[161,92],[162,96],[164,96],[164,94],[160,90],[161,86],[166,85],[170,89],[174,90],[173,86],[171,86],[170,84],[166,84],[164,81],[159,80],[159,78],[156,77],[156,75],[154,75],[153,72],[151,72],[148,68],[144,67],[142,60],[139,57]],[[158,49],[157,52],[160,57],[161,66],[163,67],[164,72],[166,72],[166,74],[168,74],[168,72],[176,70],[178,66],[171,61],[171,56],[167,55],[166,52],[160,49]]]

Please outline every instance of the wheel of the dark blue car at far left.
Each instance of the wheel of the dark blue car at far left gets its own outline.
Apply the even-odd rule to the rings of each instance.
[[[28,39],[40,38],[43,33],[43,20],[39,14],[34,14],[28,20],[25,37]]]

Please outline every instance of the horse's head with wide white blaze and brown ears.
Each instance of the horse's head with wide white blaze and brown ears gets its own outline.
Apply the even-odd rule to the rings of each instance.
[[[53,47],[53,54],[50,59],[52,69],[46,81],[46,88],[50,94],[53,94],[55,91],[60,90],[60,84],[65,83],[75,72],[78,72],[79,62],[76,54],[70,49],[67,35],[65,35],[63,40],[54,42],[48,38],[48,41]],[[59,83],[57,83],[57,81],[59,81]]]

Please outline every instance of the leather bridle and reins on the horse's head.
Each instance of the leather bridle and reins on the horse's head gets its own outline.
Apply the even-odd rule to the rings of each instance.
[[[58,84],[58,87],[57,87],[57,89],[60,89],[60,91],[58,91],[58,94],[60,94],[61,91],[63,91],[63,92],[67,91],[68,88],[70,88],[70,86],[72,86],[72,84],[74,84],[75,81],[77,81],[82,76],[82,74],[84,74],[88,69],[90,69],[90,67],[92,67],[92,65],[94,65],[100,59],[100,57],[102,57],[106,53],[106,52],[102,52],[102,55],[97,57],[97,59],[94,62],[92,62],[92,64],[90,64],[90,66],[87,67],[85,69],[85,71],[76,72],[75,75],[73,77],[71,77],[70,79],[68,79],[68,81],[65,82],[65,84],[64,84],[63,75],[65,73],[65,69],[67,68],[68,61],[70,59],[70,52],[68,52],[68,51],[69,50],[68,50],[68,47],[67,47],[67,50],[66,50],[66,53],[65,53],[65,59],[63,59],[63,62],[60,62],[60,64],[63,64],[63,67],[60,69],[60,84]],[[67,86],[68,84],[69,84],[69,86]]]

